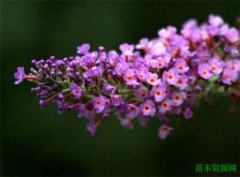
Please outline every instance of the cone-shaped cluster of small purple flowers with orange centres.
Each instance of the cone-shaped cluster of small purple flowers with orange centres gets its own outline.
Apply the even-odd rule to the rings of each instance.
[[[146,125],[158,118],[158,136],[165,139],[171,115],[190,119],[198,98],[209,99],[213,90],[239,92],[239,48],[239,30],[210,15],[200,26],[186,22],[180,33],[168,26],[155,39],[122,44],[120,53],[83,44],[76,56],[34,59],[29,75],[18,67],[15,84],[35,82],[41,107],[55,102],[59,113],[74,109],[88,119],[91,135],[114,114],[127,129],[135,120]]]

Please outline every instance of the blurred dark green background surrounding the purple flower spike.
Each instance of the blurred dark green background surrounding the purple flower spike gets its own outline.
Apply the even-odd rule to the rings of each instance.
[[[158,120],[127,131],[110,118],[91,137],[75,113],[42,110],[31,83],[15,86],[17,66],[33,58],[75,55],[88,42],[118,49],[155,37],[167,25],[189,18],[200,23],[221,15],[235,25],[239,1],[170,2],[1,2],[1,173],[3,176],[195,176],[197,163],[235,163],[239,174],[239,117],[228,99],[200,107],[185,125],[173,124],[157,138]],[[238,107],[238,109],[240,109]],[[173,120],[173,122],[175,122]],[[208,173],[207,175],[213,175]],[[218,175],[234,176],[237,173]]]

